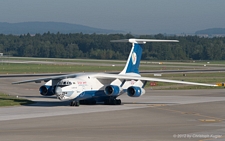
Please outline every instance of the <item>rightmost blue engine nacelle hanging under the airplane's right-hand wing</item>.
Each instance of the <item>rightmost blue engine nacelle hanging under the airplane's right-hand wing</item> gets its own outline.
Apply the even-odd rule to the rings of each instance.
[[[145,94],[145,89],[131,86],[127,89],[127,95],[130,97],[139,97]]]

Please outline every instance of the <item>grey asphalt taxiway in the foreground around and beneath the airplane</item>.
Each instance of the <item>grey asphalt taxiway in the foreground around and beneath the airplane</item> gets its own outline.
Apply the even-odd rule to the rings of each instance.
[[[70,107],[38,94],[41,84],[11,85],[24,78],[1,78],[0,91],[36,101],[0,108],[1,141],[224,141],[225,91],[151,90],[122,105]]]

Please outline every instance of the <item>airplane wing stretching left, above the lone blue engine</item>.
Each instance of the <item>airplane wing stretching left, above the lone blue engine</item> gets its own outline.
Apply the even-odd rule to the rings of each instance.
[[[65,79],[65,78],[73,78],[73,77],[76,77],[77,75],[79,75],[79,74],[66,74],[66,75],[59,75],[59,76],[51,76],[51,77],[44,77],[44,78],[38,78],[38,79],[13,82],[12,84],[21,84],[21,83],[29,83],[29,82],[41,83],[41,81],[48,82],[49,80],[61,80],[61,79]]]

